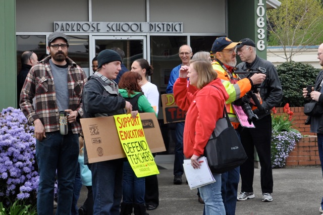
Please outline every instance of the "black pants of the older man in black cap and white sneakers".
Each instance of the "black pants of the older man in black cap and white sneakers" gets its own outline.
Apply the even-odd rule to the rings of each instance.
[[[253,122],[255,128],[240,131],[241,143],[248,159],[240,166],[241,192],[253,192],[254,146],[260,161],[260,183],[262,193],[273,192],[273,171],[271,162],[272,118],[267,115]]]

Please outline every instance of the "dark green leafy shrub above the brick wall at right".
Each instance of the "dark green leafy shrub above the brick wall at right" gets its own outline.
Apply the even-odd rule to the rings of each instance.
[[[292,107],[304,106],[308,101],[302,96],[306,85],[314,85],[320,69],[301,62],[285,62],[277,66],[277,72],[283,88],[283,99],[280,106],[289,103]]]

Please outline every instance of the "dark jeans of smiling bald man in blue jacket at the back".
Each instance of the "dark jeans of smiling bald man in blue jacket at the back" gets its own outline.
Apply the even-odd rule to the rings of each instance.
[[[184,173],[184,152],[183,152],[183,133],[184,133],[184,122],[176,123],[175,135],[172,137],[175,140],[175,160],[174,160],[174,176],[182,176]]]

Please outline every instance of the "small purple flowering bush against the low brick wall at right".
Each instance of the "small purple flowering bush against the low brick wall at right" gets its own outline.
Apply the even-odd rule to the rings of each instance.
[[[272,168],[282,168],[286,164],[286,159],[300,140],[302,135],[294,131],[276,131],[272,132]]]

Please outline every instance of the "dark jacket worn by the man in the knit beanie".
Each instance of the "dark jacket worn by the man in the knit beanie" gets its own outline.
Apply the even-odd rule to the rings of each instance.
[[[83,89],[83,118],[125,114],[126,100],[97,75],[91,75]]]

